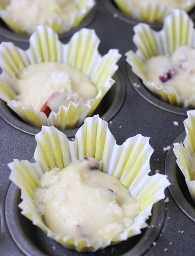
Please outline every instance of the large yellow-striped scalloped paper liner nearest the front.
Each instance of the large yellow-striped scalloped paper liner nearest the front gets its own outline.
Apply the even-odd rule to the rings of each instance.
[[[170,185],[167,176],[159,173],[148,176],[149,159],[153,153],[148,137],[138,134],[119,146],[108,129],[108,123],[95,115],[85,119],[84,125],[75,135],[75,141],[69,141],[66,135],[56,128],[45,126],[35,139],[36,162],[19,162],[15,159],[8,164],[12,170],[9,179],[21,189],[21,213],[47,233],[47,236],[66,248],[96,251],[141,233],[140,229],[147,227],[146,219],[151,215],[153,204],[165,198],[164,189]],[[77,240],[71,236],[53,233],[42,221],[33,202],[33,189],[39,188],[43,173],[54,167],[63,169],[76,159],[82,160],[83,156],[102,160],[101,171],[120,179],[131,195],[136,197],[136,201],[141,202],[140,212],[133,224],[109,241],[99,243],[86,238]]]

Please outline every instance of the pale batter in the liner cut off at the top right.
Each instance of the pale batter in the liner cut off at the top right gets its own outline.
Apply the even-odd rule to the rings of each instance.
[[[132,3],[133,7],[139,7],[141,4],[162,4],[164,7],[167,8],[179,8],[180,5],[187,3],[188,0],[129,0]]]

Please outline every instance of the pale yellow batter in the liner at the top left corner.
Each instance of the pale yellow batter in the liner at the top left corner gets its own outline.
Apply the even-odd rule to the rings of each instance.
[[[17,20],[23,21],[26,27],[35,27],[46,18],[60,18],[71,22],[79,9],[72,0],[11,0],[6,11]]]

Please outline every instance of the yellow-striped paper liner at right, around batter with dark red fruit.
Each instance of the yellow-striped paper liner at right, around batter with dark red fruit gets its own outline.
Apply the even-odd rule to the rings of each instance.
[[[132,71],[143,81],[144,85],[162,100],[180,107],[195,107],[195,96],[188,101],[185,96],[178,96],[175,90],[167,91],[164,86],[157,87],[146,79],[143,64],[152,56],[172,54],[177,48],[188,45],[195,48],[194,23],[185,11],[175,9],[167,16],[160,32],[152,30],[148,24],[134,26],[133,42],[137,47],[125,53],[126,61]]]

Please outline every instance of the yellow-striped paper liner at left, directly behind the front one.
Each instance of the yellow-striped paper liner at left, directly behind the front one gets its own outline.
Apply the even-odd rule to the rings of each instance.
[[[80,127],[85,118],[91,116],[101,99],[115,82],[111,77],[118,69],[116,65],[121,54],[111,49],[103,57],[98,53],[100,43],[93,29],[83,28],[76,32],[69,43],[63,44],[58,35],[47,26],[40,25],[30,38],[27,51],[14,46],[13,43],[2,42],[0,45],[0,98],[16,112],[27,124],[41,128],[55,126],[59,130]],[[81,100],[78,104],[69,102],[68,108],[60,106],[59,112],[51,112],[47,118],[45,113],[36,114],[32,106],[24,106],[15,100],[11,77],[19,76],[28,65],[42,62],[58,62],[79,69],[95,85],[98,94],[88,104]]]

